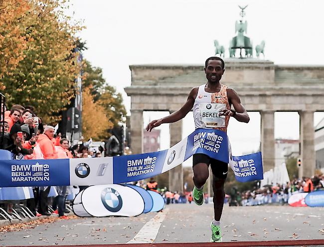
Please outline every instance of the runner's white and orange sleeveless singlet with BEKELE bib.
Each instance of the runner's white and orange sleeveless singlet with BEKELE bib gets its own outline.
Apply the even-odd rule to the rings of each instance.
[[[205,85],[199,86],[192,108],[195,128],[219,129],[226,132],[229,116],[219,116],[219,112],[231,109],[227,86],[221,84],[219,92],[209,93],[205,91]]]

